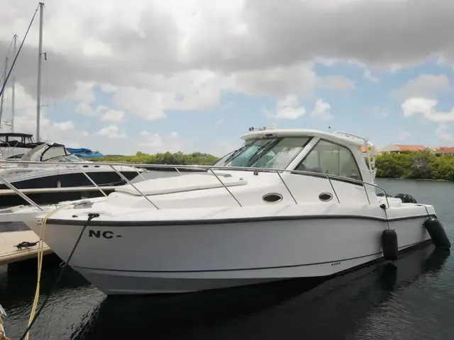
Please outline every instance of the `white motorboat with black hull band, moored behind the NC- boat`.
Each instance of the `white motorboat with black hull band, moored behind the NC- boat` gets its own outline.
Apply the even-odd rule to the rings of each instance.
[[[144,172],[144,169],[133,166],[108,166],[89,162],[71,154],[65,145],[54,142],[36,143],[35,147],[29,149],[20,159],[5,161],[9,163],[0,164],[0,176],[3,179],[0,181],[0,190],[11,188],[5,181],[17,189],[31,189],[28,194],[41,204],[80,198],[87,194],[84,193],[85,188],[121,186],[137,177],[143,179],[141,174]],[[99,191],[90,194],[101,196]],[[19,196],[0,195],[1,207],[21,203],[24,202]]]

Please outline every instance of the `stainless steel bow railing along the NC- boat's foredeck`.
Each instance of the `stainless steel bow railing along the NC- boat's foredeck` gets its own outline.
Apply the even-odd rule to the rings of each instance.
[[[41,166],[43,165],[43,162],[31,162],[31,161],[6,161],[6,160],[0,160],[0,164],[40,164]],[[82,166],[81,165],[87,165],[87,162],[45,162],[45,164],[48,164],[48,165],[62,165],[62,164],[70,164],[70,165],[77,165],[79,166],[79,169],[81,169],[82,173],[87,176],[87,178],[89,179],[90,182],[93,183],[93,185],[104,195],[106,196],[106,193],[104,193],[104,191],[101,190],[101,188],[99,188],[99,186],[89,177],[89,173],[87,171],[84,171],[82,169]],[[155,203],[153,203],[152,200],[150,200],[150,198],[148,196],[146,196],[142,191],[140,191],[140,189],[135,186],[133,183],[131,183],[131,181],[129,181],[126,176],[124,176],[123,174],[121,174],[121,170],[118,171],[118,169],[116,169],[116,166],[133,166],[133,167],[140,167],[140,168],[145,168],[145,169],[175,169],[180,175],[181,175],[181,172],[179,171],[179,169],[198,169],[198,170],[201,170],[201,171],[209,171],[209,173],[211,175],[213,175],[217,181],[219,181],[219,183],[221,184],[221,186],[223,188],[226,189],[226,191],[228,192],[228,194],[233,198],[233,200],[236,201],[236,203],[242,207],[243,205],[241,205],[240,201],[238,200],[238,198],[236,198],[235,195],[233,195],[233,193],[231,192],[231,190],[228,188],[228,186],[226,186],[225,183],[223,183],[223,181],[221,180],[221,178],[219,177],[218,174],[216,174],[215,170],[218,170],[218,171],[257,171],[257,172],[270,172],[270,173],[275,173],[277,174],[277,176],[279,177],[279,180],[282,182],[282,184],[284,185],[284,187],[286,188],[287,192],[289,193],[289,196],[292,198],[292,200],[294,201],[295,204],[298,204],[298,201],[297,199],[295,198],[294,194],[292,193],[292,190],[291,188],[289,188],[289,186],[287,186],[287,183],[285,182],[284,180],[284,177],[282,176],[282,174],[298,174],[298,175],[301,175],[301,176],[317,176],[317,177],[325,177],[327,180],[328,180],[328,183],[330,184],[331,188],[333,189],[333,193],[334,193],[334,196],[336,196],[336,200],[338,201],[338,203],[341,203],[341,200],[339,199],[339,196],[338,196],[338,193],[336,192],[336,189],[334,188],[333,186],[333,180],[348,180],[349,182],[353,182],[353,183],[356,183],[360,186],[364,186],[365,187],[365,195],[367,197],[367,202],[369,204],[371,204],[371,200],[370,200],[370,197],[369,197],[369,194],[367,193],[367,190],[366,190],[366,186],[371,186],[373,188],[377,188],[379,189],[380,191],[382,191],[384,193],[384,198],[386,199],[387,201],[387,205],[389,207],[389,201],[388,201],[388,198],[387,198],[387,193],[386,191],[384,191],[383,188],[380,188],[380,186],[377,186],[373,183],[367,183],[365,181],[360,181],[358,179],[350,179],[350,178],[347,178],[347,177],[343,177],[343,176],[337,176],[337,175],[331,175],[331,174],[321,174],[321,173],[318,173],[318,172],[311,172],[311,171],[299,171],[299,170],[288,170],[288,169],[273,169],[273,168],[253,168],[253,167],[242,167],[242,166],[206,166],[206,165],[172,165],[172,164],[142,164],[142,163],[126,163],[126,162],[96,162],[96,165],[106,165],[106,166],[109,166],[113,171],[116,172],[116,174],[118,174],[118,176],[121,177],[121,179],[123,179],[123,181],[126,181],[126,183],[128,183],[128,185],[130,185],[132,188],[134,188],[135,191],[137,191],[140,196],[143,196],[143,198],[145,198],[145,200],[148,200],[148,202],[153,205],[154,208],[156,209],[160,209]],[[41,168],[43,169],[43,168]],[[9,181],[7,181],[6,179],[4,179],[2,176],[1,176],[1,171],[0,171],[0,181],[3,182],[6,186],[8,186],[11,190],[13,190],[16,194],[18,194],[18,196],[21,196],[21,198],[23,198],[24,200],[26,200],[28,203],[30,203],[31,205],[34,205],[36,208],[39,208],[40,210],[42,210],[42,208],[40,208],[40,206],[38,204],[36,204],[35,202],[33,202],[33,200],[31,200],[31,198],[28,198],[25,194],[21,193],[21,191],[19,189],[17,189],[16,187],[13,186],[13,184],[11,184]]]

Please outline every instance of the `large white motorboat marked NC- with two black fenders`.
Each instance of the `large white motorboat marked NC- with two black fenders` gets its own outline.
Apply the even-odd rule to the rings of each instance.
[[[107,295],[331,276],[430,240],[450,247],[432,205],[377,196],[362,137],[253,130],[243,140],[206,174],[141,181],[54,211],[44,242],[66,260],[82,235],[70,266]],[[14,216],[42,231],[43,212],[0,220]]]

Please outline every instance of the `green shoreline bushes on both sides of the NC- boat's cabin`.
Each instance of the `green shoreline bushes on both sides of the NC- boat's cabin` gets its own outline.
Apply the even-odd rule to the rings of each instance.
[[[90,159],[94,162],[131,162],[144,164],[212,165],[218,161],[212,154],[192,152],[165,152],[133,156],[104,156]],[[454,181],[454,156],[436,157],[428,151],[402,152],[377,155],[377,178],[419,179],[432,181]]]

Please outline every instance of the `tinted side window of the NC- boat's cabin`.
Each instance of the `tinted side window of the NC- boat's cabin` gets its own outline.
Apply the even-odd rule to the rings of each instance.
[[[360,170],[349,149],[320,140],[296,170],[361,179]]]

